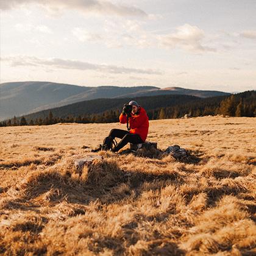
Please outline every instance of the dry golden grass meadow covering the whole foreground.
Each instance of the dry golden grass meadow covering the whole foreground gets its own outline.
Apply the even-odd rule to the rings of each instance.
[[[125,126],[1,127],[0,254],[255,255],[255,121],[151,121],[148,140],[191,161],[99,152],[81,172]]]

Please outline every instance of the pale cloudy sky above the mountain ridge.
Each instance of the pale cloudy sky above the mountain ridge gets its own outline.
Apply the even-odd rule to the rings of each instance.
[[[256,90],[255,0],[0,0],[0,82]]]

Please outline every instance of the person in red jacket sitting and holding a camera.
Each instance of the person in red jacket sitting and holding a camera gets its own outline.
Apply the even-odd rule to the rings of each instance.
[[[119,116],[121,124],[127,124],[127,130],[112,129],[99,145],[99,148],[93,149],[92,152],[101,150],[111,150],[118,152],[121,148],[126,146],[127,143],[140,144],[146,141],[149,130],[149,118],[144,110],[136,101],[130,101],[129,104],[124,104],[123,112]],[[120,138],[121,141],[116,143],[115,138]]]

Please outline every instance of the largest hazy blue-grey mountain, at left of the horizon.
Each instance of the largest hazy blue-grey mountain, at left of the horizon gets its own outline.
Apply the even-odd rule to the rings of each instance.
[[[0,84],[0,118],[20,116],[86,99],[113,98],[152,88],[156,87],[82,87],[51,82],[4,83]]]

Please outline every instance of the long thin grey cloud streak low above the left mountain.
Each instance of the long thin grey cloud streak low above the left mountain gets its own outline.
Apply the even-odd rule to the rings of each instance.
[[[9,62],[12,66],[38,66],[46,68],[54,67],[61,69],[93,70],[112,74],[162,74],[160,71],[153,69],[126,68],[124,66],[93,64],[88,62],[81,62],[79,60],[66,60],[57,58],[40,59],[31,56],[15,56],[1,58],[1,61]]]

